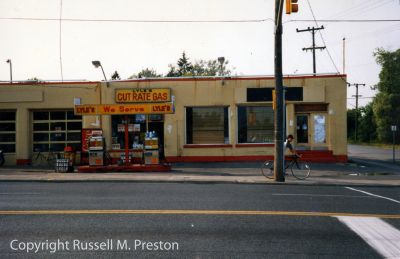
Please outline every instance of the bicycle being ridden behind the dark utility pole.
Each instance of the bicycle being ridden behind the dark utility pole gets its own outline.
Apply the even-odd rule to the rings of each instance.
[[[304,180],[310,176],[311,166],[310,163],[305,161],[299,161],[300,157],[293,157],[290,161],[285,161],[285,172],[288,168],[292,172],[292,175],[299,179]],[[261,173],[268,179],[274,178],[274,161],[265,161],[261,165]]]

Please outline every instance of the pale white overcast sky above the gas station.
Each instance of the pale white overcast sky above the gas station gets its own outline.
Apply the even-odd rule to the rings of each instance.
[[[299,12],[283,15],[283,73],[311,74],[310,32],[316,34],[317,73],[345,73],[359,87],[360,106],[379,82],[377,48],[400,48],[399,0],[299,0]],[[233,75],[274,74],[274,0],[0,0],[0,81],[122,79],[144,68],[166,74],[185,51],[190,61],[225,57]],[[312,10],[312,11],[311,11]],[[313,21],[313,14],[317,22]],[[61,19],[60,19],[61,18]],[[299,21],[308,20],[308,21]],[[150,22],[151,21],[151,22]],[[233,22],[232,22],[233,21]],[[321,37],[322,36],[322,37]],[[343,48],[343,38],[345,48]],[[345,55],[343,55],[345,49]],[[348,108],[355,106],[348,88]]]

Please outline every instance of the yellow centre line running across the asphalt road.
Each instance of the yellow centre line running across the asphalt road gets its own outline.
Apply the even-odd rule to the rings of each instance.
[[[155,215],[260,215],[303,217],[375,217],[400,219],[400,214],[359,214],[341,212],[257,211],[257,210],[0,210],[0,215],[79,215],[79,214],[155,214]]]

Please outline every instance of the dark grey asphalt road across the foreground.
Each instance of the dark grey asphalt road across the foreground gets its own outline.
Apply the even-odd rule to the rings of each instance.
[[[397,235],[399,200],[394,187],[0,183],[0,258],[382,258],[351,227]]]

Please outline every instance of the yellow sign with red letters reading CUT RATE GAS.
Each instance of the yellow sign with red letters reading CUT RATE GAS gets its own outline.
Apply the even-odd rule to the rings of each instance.
[[[171,89],[168,88],[135,88],[115,90],[115,102],[117,103],[156,103],[170,101]]]

